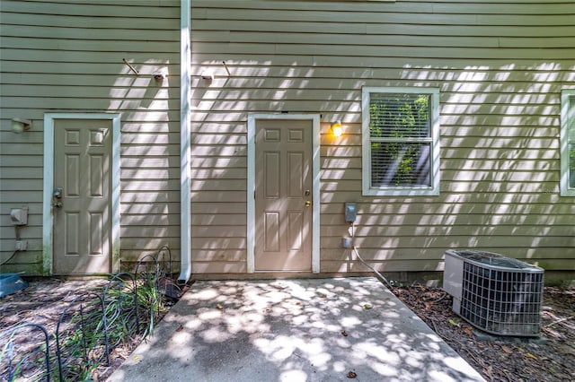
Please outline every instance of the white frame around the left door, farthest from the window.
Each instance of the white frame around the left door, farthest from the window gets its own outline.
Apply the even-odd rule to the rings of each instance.
[[[111,271],[119,272],[119,135],[121,114],[111,113],[45,113],[44,114],[44,193],[42,202],[43,273],[52,274],[54,264],[54,121],[56,119],[111,120]]]

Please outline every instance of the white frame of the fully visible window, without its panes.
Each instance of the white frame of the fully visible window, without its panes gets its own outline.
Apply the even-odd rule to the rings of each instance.
[[[369,135],[369,103],[372,93],[416,93],[430,94],[431,136],[431,181],[430,186],[371,187],[371,140]],[[362,191],[363,195],[439,195],[439,89],[419,87],[364,87],[361,93],[362,110]]]

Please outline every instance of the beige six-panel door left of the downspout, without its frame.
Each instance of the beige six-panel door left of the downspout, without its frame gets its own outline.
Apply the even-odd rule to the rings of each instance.
[[[111,272],[111,119],[54,121],[54,273]]]

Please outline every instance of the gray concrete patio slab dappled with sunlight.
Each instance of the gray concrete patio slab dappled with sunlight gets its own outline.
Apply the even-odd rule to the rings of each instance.
[[[375,278],[200,281],[109,381],[482,381]]]

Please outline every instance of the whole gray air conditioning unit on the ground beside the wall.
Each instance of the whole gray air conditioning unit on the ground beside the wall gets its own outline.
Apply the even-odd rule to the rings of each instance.
[[[445,258],[443,289],[457,315],[491,334],[539,334],[544,269],[476,250],[447,250]]]

